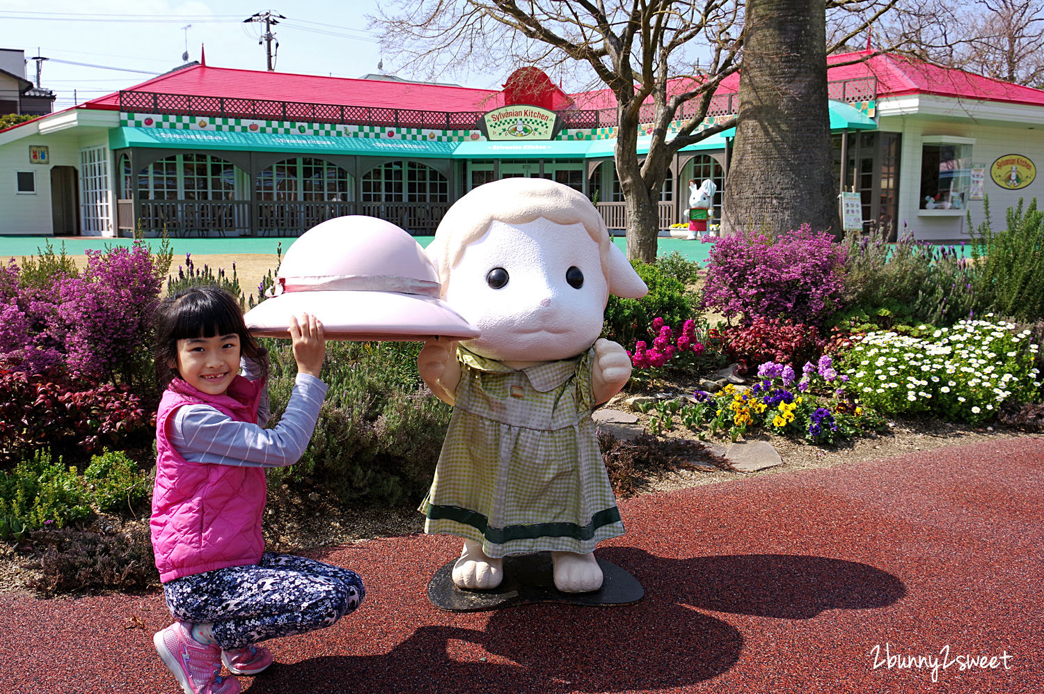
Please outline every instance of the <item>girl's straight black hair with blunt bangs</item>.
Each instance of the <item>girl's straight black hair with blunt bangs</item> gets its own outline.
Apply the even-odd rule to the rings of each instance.
[[[160,302],[155,314],[156,380],[160,391],[166,389],[177,370],[177,340],[215,335],[239,335],[239,353],[261,364],[261,375],[268,378],[268,359],[264,350],[246,330],[243,312],[236,300],[220,287],[191,287]]]

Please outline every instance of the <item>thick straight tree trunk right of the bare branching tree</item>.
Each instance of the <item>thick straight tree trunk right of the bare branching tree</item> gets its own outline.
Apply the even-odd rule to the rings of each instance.
[[[750,0],[721,231],[838,235],[825,0]]]

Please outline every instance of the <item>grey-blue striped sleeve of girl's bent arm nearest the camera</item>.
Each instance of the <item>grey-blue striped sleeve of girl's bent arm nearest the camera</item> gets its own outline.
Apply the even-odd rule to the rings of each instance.
[[[298,374],[279,424],[274,429],[236,422],[210,405],[179,408],[168,432],[170,442],[191,462],[282,468],[301,459],[315,431],[327,385]]]

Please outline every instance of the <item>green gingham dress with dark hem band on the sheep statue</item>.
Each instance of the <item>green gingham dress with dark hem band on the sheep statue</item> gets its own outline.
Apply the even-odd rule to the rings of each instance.
[[[587,554],[623,534],[598,451],[594,350],[516,370],[457,348],[460,383],[425,532],[482,544],[490,557],[545,550]]]

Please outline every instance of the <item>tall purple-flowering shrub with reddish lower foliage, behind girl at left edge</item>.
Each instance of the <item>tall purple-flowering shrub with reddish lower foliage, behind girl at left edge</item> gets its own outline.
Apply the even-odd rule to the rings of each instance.
[[[143,242],[87,255],[81,273],[47,255],[28,273],[0,268],[0,462],[150,447],[150,311],[167,267]]]

